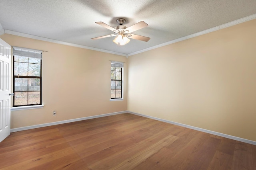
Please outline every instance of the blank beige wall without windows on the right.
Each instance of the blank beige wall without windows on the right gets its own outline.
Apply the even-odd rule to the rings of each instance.
[[[128,58],[128,110],[256,141],[256,20]]]

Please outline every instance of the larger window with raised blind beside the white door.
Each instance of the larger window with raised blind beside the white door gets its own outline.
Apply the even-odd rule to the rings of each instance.
[[[13,106],[42,104],[42,51],[13,47]]]

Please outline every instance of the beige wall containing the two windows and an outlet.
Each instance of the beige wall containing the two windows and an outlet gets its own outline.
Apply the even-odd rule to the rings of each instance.
[[[11,128],[127,110],[126,57],[9,34],[0,38],[12,46],[48,51],[42,60],[44,107],[12,111]],[[110,60],[125,62],[123,101],[110,101]]]

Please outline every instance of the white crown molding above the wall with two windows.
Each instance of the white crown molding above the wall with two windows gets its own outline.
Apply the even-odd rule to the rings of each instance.
[[[67,42],[64,42],[64,41],[58,41],[58,40],[55,40],[55,39],[39,37],[39,36],[36,36],[36,35],[30,35],[30,34],[26,34],[26,33],[20,33],[20,32],[11,31],[11,30],[8,30],[8,29],[4,29],[4,33],[11,34],[11,35],[17,35],[17,36],[20,36],[20,37],[37,39],[37,40],[41,40],[41,41],[47,41],[47,42],[51,42],[51,43],[68,45],[68,46],[72,46],[72,47],[78,47],[78,48],[82,48],[82,49],[89,49],[89,50],[100,51],[100,52],[104,52],[104,53],[110,53],[110,54],[121,55],[121,56],[127,57],[127,55],[124,54],[124,53],[116,53],[114,51],[108,51],[108,50],[104,50],[104,49],[88,47],[88,46],[85,46],[85,45],[78,45],[78,44],[73,44],[73,43],[67,43]]]

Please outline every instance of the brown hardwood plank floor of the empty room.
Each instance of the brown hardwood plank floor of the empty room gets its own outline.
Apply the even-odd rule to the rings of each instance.
[[[129,113],[11,133],[4,170],[256,170],[256,145]]]

